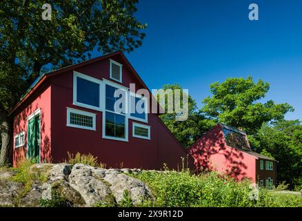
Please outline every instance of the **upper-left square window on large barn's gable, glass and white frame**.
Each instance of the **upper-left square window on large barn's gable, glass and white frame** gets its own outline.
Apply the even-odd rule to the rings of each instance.
[[[99,79],[73,72],[73,104],[101,111],[102,82]]]

